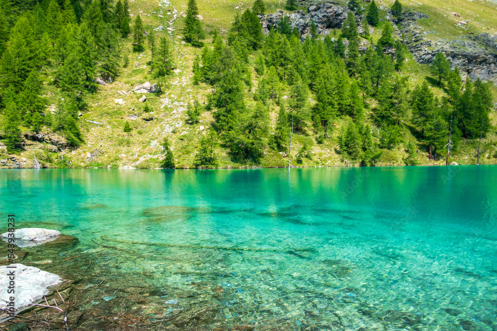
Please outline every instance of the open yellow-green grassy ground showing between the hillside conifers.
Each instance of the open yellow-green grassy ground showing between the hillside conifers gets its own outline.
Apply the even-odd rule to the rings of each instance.
[[[235,0],[208,0],[197,2],[200,14],[203,16],[202,21],[208,32],[212,31],[214,28],[218,28],[222,32],[228,29],[234,15],[237,12],[243,12],[252,3],[252,1],[240,2]],[[393,0],[383,2],[380,1],[380,5],[390,5],[392,2]],[[171,3],[177,9],[178,13],[186,10],[186,1],[171,0]],[[419,25],[424,27],[426,30],[436,30],[438,33],[437,37],[450,39],[457,38],[466,33],[463,28],[455,27],[454,23],[457,22],[458,18],[451,15],[449,13],[450,11],[459,12],[462,16],[459,20],[470,20],[470,23],[465,26],[466,29],[489,31],[487,28],[490,28],[490,32],[495,33],[497,28],[496,5],[490,5],[491,2],[469,2],[466,0],[418,0],[406,1],[405,4],[413,9],[421,10],[430,14],[430,18],[421,20]],[[144,19],[147,30],[155,28],[158,25],[163,25],[164,27],[169,26],[168,21],[172,18],[172,11],[170,11],[171,14],[168,15],[167,10],[164,9],[162,14],[164,18],[159,17],[162,7],[159,6],[158,1],[135,0],[130,2],[130,5],[131,14],[134,15],[133,17],[136,17],[136,15],[142,11],[141,15]],[[284,1],[266,1],[268,12],[274,12],[278,8],[283,8],[283,5]],[[236,8],[237,6],[239,8]],[[172,9],[171,7],[168,8]],[[433,24],[431,21],[438,22],[439,24]],[[70,154],[73,166],[157,167],[159,166],[159,159],[162,151],[162,147],[159,143],[164,136],[167,136],[173,143],[176,166],[192,166],[194,151],[198,147],[200,134],[204,133],[199,130],[199,128],[200,126],[209,126],[209,123],[212,122],[212,114],[210,112],[204,112],[198,125],[188,126],[185,124],[185,111],[181,111],[181,109],[186,107],[185,103],[192,102],[195,98],[197,98],[201,103],[206,102],[206,95],[210,92],[211,87],[205,84],[194,86],[191,83],[190,76],[193,58],[195,55],[200,54],[201,50],[192,48],[188,44],[184,44],[180,38],[177,38],[177,36],[180,35],[180,26],[181,18],[177,19],[172,25],[174,31],[172,32],[173,38],[171,38],[174,45],[175,63],[177,68],[180,69],[180,72],[170,76],[167,79],[166,88],[164,88],[165,93],[162,96],[157,97],[150,93],[147,94],[148,104],[153,109],[153,113],[145,114],[142,111],[144,104],[138,101],[138,99],[142,96],[141,94],[131,93],[129,96],[122,96],[118,93],[118,91],[129,92],[132,87],[145,81],[150,81],[151,83],[155,82],[152,72],[149,71],[149,66],[146,65],[146,63],[150,61],[150,50],[147,48],[143,53],[130,53],[129,50],[131,50],[131,41],[121,41],[123,46],[123,55],[124,53],[128,53],[130,58],[129,66],[122,70],[119,78],[114,83],[106,86],[100,86],[97,94],[87,97],[86,101],[88,103],[88,111],[83,114],[82,118],[97,121],[103,123],[103,125],[95,125],[86,121],[81,122],[85,143],[79,149],[74,151],[68,150],[65,152]],[[163,33],[166,33],[166,30],[164,30],[164,32],[158,32],[158,37],[160,37]],[[375,36],[378,37],[379,33],[378,29],[378,31],[375,32]],[[208,35],[207,38],[209,40],[210,36]],[[413,84],[425,79],[428,75],[427,67],[416,64],[412,59],[409,59],[405,71],[412,76],[411,82]],[[49,75],[50,73],[47,73],[47,80]],[[255,77],[255,75],[253,75],[253,77]],[[254,84],[255,83],[256,81],[254,80]],[[49,93],[54,92],[54,90],[55,88],[53,86],[46,86],[46,94],[49,95]],[[437,89],[435,89],[435,92],[437,94],[441,93],[441,91]],[[125,104],[116,104],[114,99],[117,98],[123,98],[125,100]],[[160,107],[163,104],[161,99],[165,98],[169,99],[169,104],[174,104],[174,106],[166,106],[161,109]],[[51,96],[51,103],[55,102],[55,97]],[[248,103],[250,104],[250,101]],[[271,126],[274,126],[276,110],[277,109],[274,107],[271,107]],[[129,115],[138,115],[139,119],[134,121],[129,120],[134,130],[130,133],[124,133],[122,128],[125,121],[128,120]],[[155,117],[155,120],[154,122],[146,122],[141,119],[143,117]],[[497,125],[496,118],[497,116],[495,115],[495,112],[493,112],[492,121],[494,126]],[[305,160],[302,164],[293,162],[293,164],[303,166],[345,165],[341,156],[335,152],[337,135],[344,122],[345,121],[342,119],[337,119],[333,124],[331,138],[324,144],[314,145],[313,160]],[[170,127],[173,125],[177,126],[176,130],[173,132],[167,132],[167,126]],[[411,139],[415,141],[414,136],[407,127],[404,131],[408,137],[407,140]],[[292,140],[292,154],[296,154],[304,139],[310,138],[314,138],[314,136],[310,135],[309,137],[306,137],[294,134]],[[89,153],[93,152],[97,148],[100,143],[100,139],[103,139],[103,145],[99,149],[100,153],[93,160],[88,160],[87,157]],[[497,160],[493,157],[495,150],[497,149],[496,142],[497,136],[495,132],[492,132],[486,139],[484,139],[482,142],[483,159],[481,158],[481,163],[497,162]],[[38,159],[41,158],[42,162],[45,161],[45,165],[48,166],[50,164],[50,159],[43,157],[42,153],[39,152],[39,147],[39,144],[27,146],[26,150],[19,155],[20,158],[25,158],[27,160],[26,167],[30,166],[35,152],[37,153]],[[463,142],[457,153],[454,154],[452,160],[462,164],[476,163],[477,147],[478,141]],[[229,155],[227,155],[226,150],[222,147],[219,147],[217,152],[219,154],[221,167],[243,166],[242,164],[233,162]],[[421,154],[419,155],[419,163],[444,163],[443,161],[429,161],[425,155],[426,153],[421,151]],[[394,150],[385,150],[378,164],[403,164],[402,159],[405,156],[406,153],[402,147]],[[281,154],[267,151],[260,165],[270,167],[285,166],[286,164],[287,159]]]

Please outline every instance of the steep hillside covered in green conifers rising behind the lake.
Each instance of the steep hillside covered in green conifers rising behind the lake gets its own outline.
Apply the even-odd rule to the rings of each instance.
[[[1,0],[0,166],[496,163],[493,82],[416,63],[422,6],[315,3]]]

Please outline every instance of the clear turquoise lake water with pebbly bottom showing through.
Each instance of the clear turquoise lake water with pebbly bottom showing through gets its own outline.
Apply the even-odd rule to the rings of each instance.
[[[86,259],[67,277],[90,259],[88,283],[164,294],[151,321],[213,307],[177,328],[493,331],[496,183],[495,166],[2,170],[0,205],[79,238],[56,252]]]

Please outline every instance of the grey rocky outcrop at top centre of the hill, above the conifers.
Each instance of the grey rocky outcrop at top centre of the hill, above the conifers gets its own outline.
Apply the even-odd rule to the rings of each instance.
[[[314,20],[318,33],[328,34],[328,29],[339,28],[347,18],[348,9],[331,2],[312,4],[309,6],[307,13],[297,10],[291,13],[290,24],[292,29],[297,28],[301,35],[308,32],[311,21]],[[262,30],[265,34],[269,33],[270,27],[275,27],[278,21],[284,16],[282,10],[277,10],[273,14],[259,16],[262,24]]]

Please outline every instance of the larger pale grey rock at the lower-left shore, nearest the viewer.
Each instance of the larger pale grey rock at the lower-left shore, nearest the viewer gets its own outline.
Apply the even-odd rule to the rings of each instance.
[[[15,268],[12,268],[15,267]],[[10,281],[8,274],[14,273],[15,295],[7,293],[7,284]],[[61,283],[61,277],[34,266],[21,264],[0,266],[0,322],[10,318],[10,297],[14,297],[14,314],[29,307],[29,304],[39,303],[43,296],[49,294],[49,287]]]

